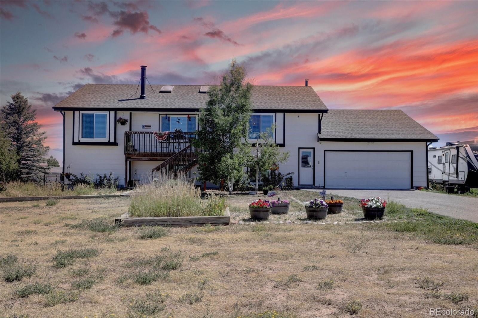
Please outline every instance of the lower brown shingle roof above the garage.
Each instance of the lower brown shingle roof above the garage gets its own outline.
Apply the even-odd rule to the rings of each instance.
[[[322,118],[322,141],[327,139],[438,140],[402,110],[329,109]]]

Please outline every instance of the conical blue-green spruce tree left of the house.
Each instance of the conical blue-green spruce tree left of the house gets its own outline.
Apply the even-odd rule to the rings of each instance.
[[[43,145],[46,133],[40,131],[42,125],[35,122],[35,117],[36,109],[21,92],[11,95],[11,102],[1,108],[1,126],[18,156],[16,179],[24,182],[38,181],[49,170],[41,164],[50,148]]]

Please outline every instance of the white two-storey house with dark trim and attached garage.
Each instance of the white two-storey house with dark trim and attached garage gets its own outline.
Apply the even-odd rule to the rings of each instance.
[[[87,84],[56,104],[63,115],[63,167],[120,183],[152,170],[196,170],[190,144],[209,86]],[[253,86],[250,140],[275,124],[290,152],[282,172],[300,187],[411,189],[427,186],[427,147],[438,138],[401,110],[329,110],[311,86]],[[124,126],[116,119],[128,119]],[[168,135],[155,132],[169,132]],[[164,140],[159,140],[165,138]]]

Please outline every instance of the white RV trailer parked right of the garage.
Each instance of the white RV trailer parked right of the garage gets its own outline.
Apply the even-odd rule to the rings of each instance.
[[[478,143],[447,142],[445,147],[429,148],[428,178],[449,192],[478,187]]]

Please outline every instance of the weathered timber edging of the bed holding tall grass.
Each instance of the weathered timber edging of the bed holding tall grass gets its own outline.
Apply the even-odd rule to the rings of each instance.
[[[115,223],[122,226],[162,225],[162,226],[200,226],[200,225],[229,225],[231,216],[229,208],[224,215],[217,216],[178,216],[178,217],[130,217],[124,213],[115,219]]]

